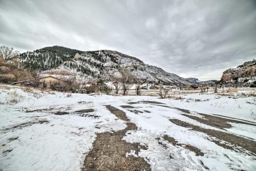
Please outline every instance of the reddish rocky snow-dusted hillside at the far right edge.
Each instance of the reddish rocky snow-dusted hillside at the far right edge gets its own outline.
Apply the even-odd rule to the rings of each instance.
[[[221,82],[226,86],[248,87],[256,81],[256,60],[244,62],[223,72]]]

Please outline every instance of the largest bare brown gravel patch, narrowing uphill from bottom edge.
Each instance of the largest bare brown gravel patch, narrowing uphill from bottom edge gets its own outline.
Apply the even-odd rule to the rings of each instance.
[[[111,105],[106,108],[119,119],[126,121],[126,128],[114,133],[105,132],[97,134],[92,150],[86,156],[83,170],[151,170],[150,165],[141,157],[135,157],[127,153],[135,151],[138,155],[140,149],[147,149],[138,143],[129,143],[122,138],[129,130],[137,130],[138,127],[130,122],[125,113]]]

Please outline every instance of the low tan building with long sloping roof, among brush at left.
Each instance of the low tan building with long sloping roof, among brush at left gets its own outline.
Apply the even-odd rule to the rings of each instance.
[[[35,78],[35,79],[29,79],[29,80],[24,80],[24,81],[18,81],[18,82],[13,82],[15,86],[36,86],[40,88],[50,88],[51,85],[61,85],[65,84],[65,80],[55,78],[53,76],[46,76],[46,77],[40,77],[40,78]]]

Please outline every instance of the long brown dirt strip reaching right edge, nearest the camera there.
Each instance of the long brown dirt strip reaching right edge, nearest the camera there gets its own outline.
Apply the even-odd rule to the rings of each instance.
[[[200,126],[196,126],[178,119],[169,119],[169,120],[179,126],[188,127],[193,131],[205,133],[210,137],[216,137],[219,140],[210,139],[210,141],[215,142],[217,145],[222,146],[226,149],[232,149],[233,151],[236,151],[236,152],[242,152],[245,154],[256,156],[255,141],[252,141],[243,137],[239,137],[233,134],[225,133],[222,131],[204,129]],[[241,147],[244,149],[242,149]]]

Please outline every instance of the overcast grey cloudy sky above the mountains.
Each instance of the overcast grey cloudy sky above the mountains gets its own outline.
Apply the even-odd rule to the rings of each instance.
[[[256,58],[256,1],[0,0],[0,45],[116,50],[182,77]]]

